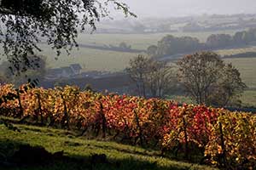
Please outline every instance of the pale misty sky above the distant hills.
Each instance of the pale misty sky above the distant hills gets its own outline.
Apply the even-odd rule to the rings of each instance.
[[[120,0],[139,17],[191,14],[255,14],[256,0]]]

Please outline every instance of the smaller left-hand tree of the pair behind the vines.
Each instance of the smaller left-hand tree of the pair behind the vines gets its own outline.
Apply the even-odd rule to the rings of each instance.
[[[126,71],[136,82],[138,94],[143,97],[162,98],[172,86],[172,67],[164,61],[138,55],[130,60]]]

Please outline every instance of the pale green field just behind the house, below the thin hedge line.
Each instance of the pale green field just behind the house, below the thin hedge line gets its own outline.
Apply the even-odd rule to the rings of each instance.
[[[54,51],[49,50],[45,45],[42,48],[44,48],[44,52],[40,54],[50,56],[47,58],[47,66],[49,68],[79,63],[84,71],[122,71],[128,66],[130,59],[137,56],[135,53],[79,48],[79,50],[73,49],[70,56],[63,52],[55,60]]]

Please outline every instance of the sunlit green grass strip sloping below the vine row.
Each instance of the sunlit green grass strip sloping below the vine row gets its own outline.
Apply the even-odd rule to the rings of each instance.
[[[93,154],[106,154],[109,164],[97,164],[90,169],[213,169],[212,167],[172,161],[157,156],[158,151],[140,147],[76,138],[73,133],[58,129],[17,125],[21,133],[8,130],[0,125],[0,149],[6,144],[31,144],[43,146],[49,152],[64,150],[66,156],[88,160]],[[56,162],[54,165],[39,167],[17,167],[9,170],[41,169],[88,169],[88,161],[83,165],[73,162]],[[117,166],[119,165],[119,166]],[[87,167],[87,168],[86,168]],[[0,167],[1,169],[1,167]]]

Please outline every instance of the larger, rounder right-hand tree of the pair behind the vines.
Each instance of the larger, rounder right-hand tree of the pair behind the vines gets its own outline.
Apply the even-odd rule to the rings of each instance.
[[[239,71],[218,54],[201,52],[185,56],[177,65],[178,77],[197,104],[229,105],[246,85]]]

